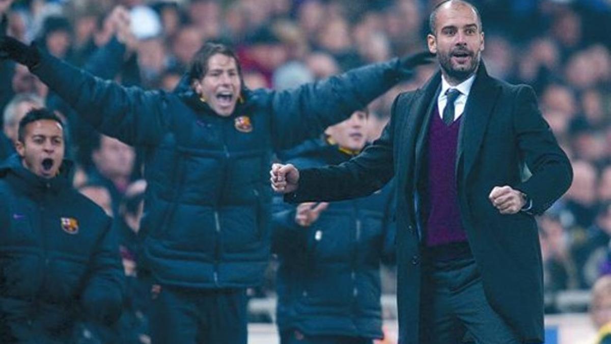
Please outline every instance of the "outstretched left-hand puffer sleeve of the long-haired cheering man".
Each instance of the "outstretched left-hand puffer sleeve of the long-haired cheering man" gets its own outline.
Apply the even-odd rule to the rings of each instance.
[[[167,95],[125,88],[41,53],[32,73],[95,129],[127,144],[154,145],[168,125]]]

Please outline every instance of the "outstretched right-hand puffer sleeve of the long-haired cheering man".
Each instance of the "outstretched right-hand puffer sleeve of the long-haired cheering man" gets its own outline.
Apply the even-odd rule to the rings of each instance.
[[[295,89],[271,92],[271,125],[277,150],[320,135],[326,127],[386,92],[406,75],[399,59],[366,65]]]

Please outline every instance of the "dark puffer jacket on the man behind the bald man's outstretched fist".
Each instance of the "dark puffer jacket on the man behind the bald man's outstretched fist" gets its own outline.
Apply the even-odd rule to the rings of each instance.
[[[291,149],[298,169],[336,165],[351,155],[322,140]],[[273,252],[279,258],[280,332],[382,338],[380,263],[394,258],[393,185],[370,196],[329,203],[308,227],[294,205],[274,198]]]

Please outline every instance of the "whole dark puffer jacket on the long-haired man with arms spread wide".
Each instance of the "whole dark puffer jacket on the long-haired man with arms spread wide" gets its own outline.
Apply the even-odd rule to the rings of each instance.
[[[32,72],[100,132],[145,150],[144,264],[156,282],[243,288],[269,260],[269,167],[406,76],[399,59],[287,91],[244,90],[231,116],[192,91],[123,88],[43,54]]]

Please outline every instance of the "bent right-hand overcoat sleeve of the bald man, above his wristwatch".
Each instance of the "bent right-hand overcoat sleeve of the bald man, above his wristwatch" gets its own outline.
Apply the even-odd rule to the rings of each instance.
[[[568,190],[573,168],[543,119],[530,86],[518,89],[516,103],[513,125],[518,149],[532,176],[515,189],[532,200],[530,212],[541,214]]]

